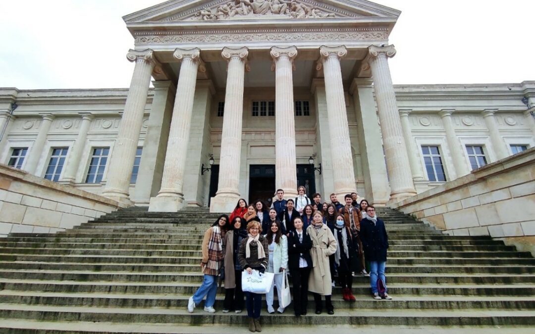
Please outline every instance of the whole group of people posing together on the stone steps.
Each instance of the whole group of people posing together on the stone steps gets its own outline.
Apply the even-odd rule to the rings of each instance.
[[[250,318],[249,330],[261,331],[262,294],[243,292],[243,271],[252,274],[273,273],[271,290],[266,294],[268,313],[273,307],[274,288],[277,288],[278,313],[285,275],[291,274],[293,309],[297,317],[307,314],[308,293],[312,293],[316,314],[323,312],[323,300],[328,314],[334,314],[331,301],[335,277],[346,301],[355,301],[353,275],[370,276],[374,299],[388,296],[385,279],[388,236],[385,224],[377,218],[375,207],[357,194],[344,197],[339,203],[332,193],[331,203],[322,203],[319,193],[312,200],[305,188],[297,189],[295,199],[284,199],[278,189],[271,208],[262,200],[247,205],[240,199],[230,214],[221,215],[204,234],[201,267],[203,282],[188,300],[188,311],[205,297],[204,310],[216,312],[217,283],[222,276],[225,283],[223,312],[241,313],[245,304]],[[366,272],[366,265],[370,273]],[[244,295],[246,301],[244,302]]]

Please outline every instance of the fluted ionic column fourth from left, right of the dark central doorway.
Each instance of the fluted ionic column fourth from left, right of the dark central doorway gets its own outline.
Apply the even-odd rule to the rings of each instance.
[[[293,61],[297,48],[271,48],[275,71],[275,188],[284,190],[286,197],[297,196],[297,167],[295,159],[295,113]]]

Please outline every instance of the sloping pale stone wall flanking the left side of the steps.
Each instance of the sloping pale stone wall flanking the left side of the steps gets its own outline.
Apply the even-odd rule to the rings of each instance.
[[[118,208],[114,200],[0,164],[0,237],[63,231]]]

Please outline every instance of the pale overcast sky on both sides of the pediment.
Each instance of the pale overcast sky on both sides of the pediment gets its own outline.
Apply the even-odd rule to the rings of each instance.
[[[122,17],[162,0],[0,0],[0,87],[125,88]],[[395,84],[535,80],[533,0],[377,0],[401,10]]]

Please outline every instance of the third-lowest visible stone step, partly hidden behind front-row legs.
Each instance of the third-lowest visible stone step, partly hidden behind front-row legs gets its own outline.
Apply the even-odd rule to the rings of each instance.
[[[181,308],[188,305],[189,295],[178,294],[117,294],[117,293],[58,293],[32,291],[0,291],[2,304],[54,305],[54,306],[96,306],[128,308]],[[340,295],[332,296],[335,309],[357,310],[369,309],[535,309],[531,297],[443,297],[443,296],[395,296],[395,299],[383,302],[370,296],[355,296],[355,302],[342,300]],[[224,295],[216,298],[216,309],[223,309]],[[265,298],[264,298],[265,299]],[[310,299],[312,297],[310,296]],[[277,297],[274,298],[278,304]],[[265,303],[265,300],[264,302]],[[265,304],[264,304],[265,305]],[[292,305],[287,312],[291,312]],[[309,310],[314,311],[310,302]]]

